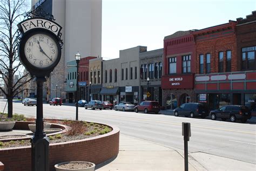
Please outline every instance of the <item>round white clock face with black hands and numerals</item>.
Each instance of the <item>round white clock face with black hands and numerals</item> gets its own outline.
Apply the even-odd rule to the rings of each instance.
[[[58,59],[58,43],[45,33],[36,33],[26,40],[24,46],[25,58],[36,68],[46,68]]]

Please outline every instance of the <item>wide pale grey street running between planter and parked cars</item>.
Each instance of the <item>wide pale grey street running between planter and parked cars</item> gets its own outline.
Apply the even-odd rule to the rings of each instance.
[[[5,104],[5,101],[0,101],[1,112]],[[43,107],[44,118],[73,120],[76,118],[75,106],[44,104]],[[36,106],[23,106],[21,102],[14,102],[14,113],[35,118]],[[83,107],[79,107],[79,120],[116,125],[120,128],[121,134],[179,149],[184,149],[181,135],[182,122],[190,122],[191,138],[188,142],[190,153],[204,152],[256,164],[256,124],[252,122],[242,124],[165,114],[85,110]]]

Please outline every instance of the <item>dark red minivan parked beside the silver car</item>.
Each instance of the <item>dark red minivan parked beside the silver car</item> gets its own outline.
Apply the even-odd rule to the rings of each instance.
[[[158,101],[142,101],[139,105],[135,106],[135,112],[144,111],[144,113],[154,112],[158,113],[160,111],[160,105]]]

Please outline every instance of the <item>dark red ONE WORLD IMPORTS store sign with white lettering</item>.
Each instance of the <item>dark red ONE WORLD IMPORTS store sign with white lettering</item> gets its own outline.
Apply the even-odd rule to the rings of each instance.
[[[178,76],[163,76],[161,79],[162,88],[193,88],[194,74],[180,74]]]

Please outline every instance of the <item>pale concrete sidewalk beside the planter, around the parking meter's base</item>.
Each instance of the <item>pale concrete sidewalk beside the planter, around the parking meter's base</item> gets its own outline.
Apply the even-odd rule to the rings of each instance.
[[[184,170],[183,156],[180,149],[120,134],[118,156],[96,170]],[[256,170],[256,165],[198,152],[188,153],[188,170]]]

